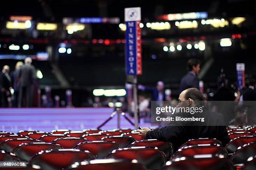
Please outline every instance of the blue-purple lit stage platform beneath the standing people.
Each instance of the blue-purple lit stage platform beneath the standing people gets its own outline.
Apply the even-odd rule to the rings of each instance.
[[[113,108],[0,108],[0,131],[18,133],[19,130],[54,129],[83,130],[97,128],[107,120]],[[128,114],[126,114],[127,117]],[[129,117],[132,122],[133,118]],[[102,129],[117,128],[117,115]],[[150,123],[140,123],[142,127],[151,127]],[[123,116],[120,116],[120,128],[134,129]]]

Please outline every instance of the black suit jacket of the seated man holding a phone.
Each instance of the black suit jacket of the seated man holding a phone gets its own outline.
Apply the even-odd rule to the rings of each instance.
[[[171,122],[168,126],[148,131],[146,139],[157,139],[171,142],[174,151],[190,139],[216,138],[225,147],[229,142],[227,127],[223,115],[218,112],[202,112],[186,117],[205,117],[204,122]],[[178,113],[175,116],[180,116]],[[182,116],[184,117],[184,116]]]

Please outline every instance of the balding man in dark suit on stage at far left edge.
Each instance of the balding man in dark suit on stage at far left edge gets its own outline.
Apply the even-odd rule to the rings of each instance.
[[[9,71],[10,67],[5,65],[0,73],[1,107],[8,107],[8,97],[10,96],[11,89],[11,78],[8,74]]]

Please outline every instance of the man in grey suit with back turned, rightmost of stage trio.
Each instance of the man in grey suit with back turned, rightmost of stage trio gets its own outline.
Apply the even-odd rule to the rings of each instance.
[[[26,57],[25,65],[20,67],[20,72],[18,75],[20,80],[18,107],[21,107],[24,97],[26,99],[26,107],[32,106],[36,69],[33,65],[31,65],[31,63],[31,57]]]

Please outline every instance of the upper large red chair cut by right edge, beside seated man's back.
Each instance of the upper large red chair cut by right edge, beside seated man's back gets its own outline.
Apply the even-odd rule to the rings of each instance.
[[[228,154],[233,154],[236,152],[237,148],[243,146],[247,143],[256,143],[256,136],[242,136],[230,140],[230,142],[225,147]]]

